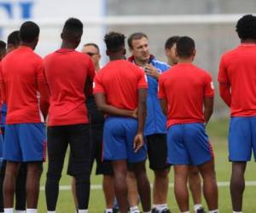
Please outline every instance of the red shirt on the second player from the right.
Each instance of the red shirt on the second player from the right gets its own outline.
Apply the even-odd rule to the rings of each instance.
[[[173,66],[160,76],[158,97],[167,102],[167,128],[204,123],[204,97],[214,95],[211,75],[191,63]]]

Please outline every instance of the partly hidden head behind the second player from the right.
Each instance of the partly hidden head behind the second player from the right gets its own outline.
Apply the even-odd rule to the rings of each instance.
[[[173,37],[169,37],[166,40],[166,44],[165,44],[166,57],[168,59],[168,64],[171,66],[177,64],[176,43],[178,38],[179,37],[177,36],[173,36]]]

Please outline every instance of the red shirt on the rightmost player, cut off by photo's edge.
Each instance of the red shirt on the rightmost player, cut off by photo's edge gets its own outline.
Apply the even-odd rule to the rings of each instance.
[[[218,82],[231,87],[231,116],[256,116],[256,44],[241,44],[221,58]]]

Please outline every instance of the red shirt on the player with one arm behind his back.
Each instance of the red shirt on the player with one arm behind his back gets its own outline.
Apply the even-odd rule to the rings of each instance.
[[[93,93],[104,93],[108,105],[119,109],[137,108],[137,89],[147,89],[147,77],[127,60],[112,60],[97,72]]]

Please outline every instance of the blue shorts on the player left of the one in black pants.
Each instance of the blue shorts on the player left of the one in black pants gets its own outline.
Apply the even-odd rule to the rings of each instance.
[[[38,124],[6,124],[3,158],[15,162],[44,161],[45,126]]]

